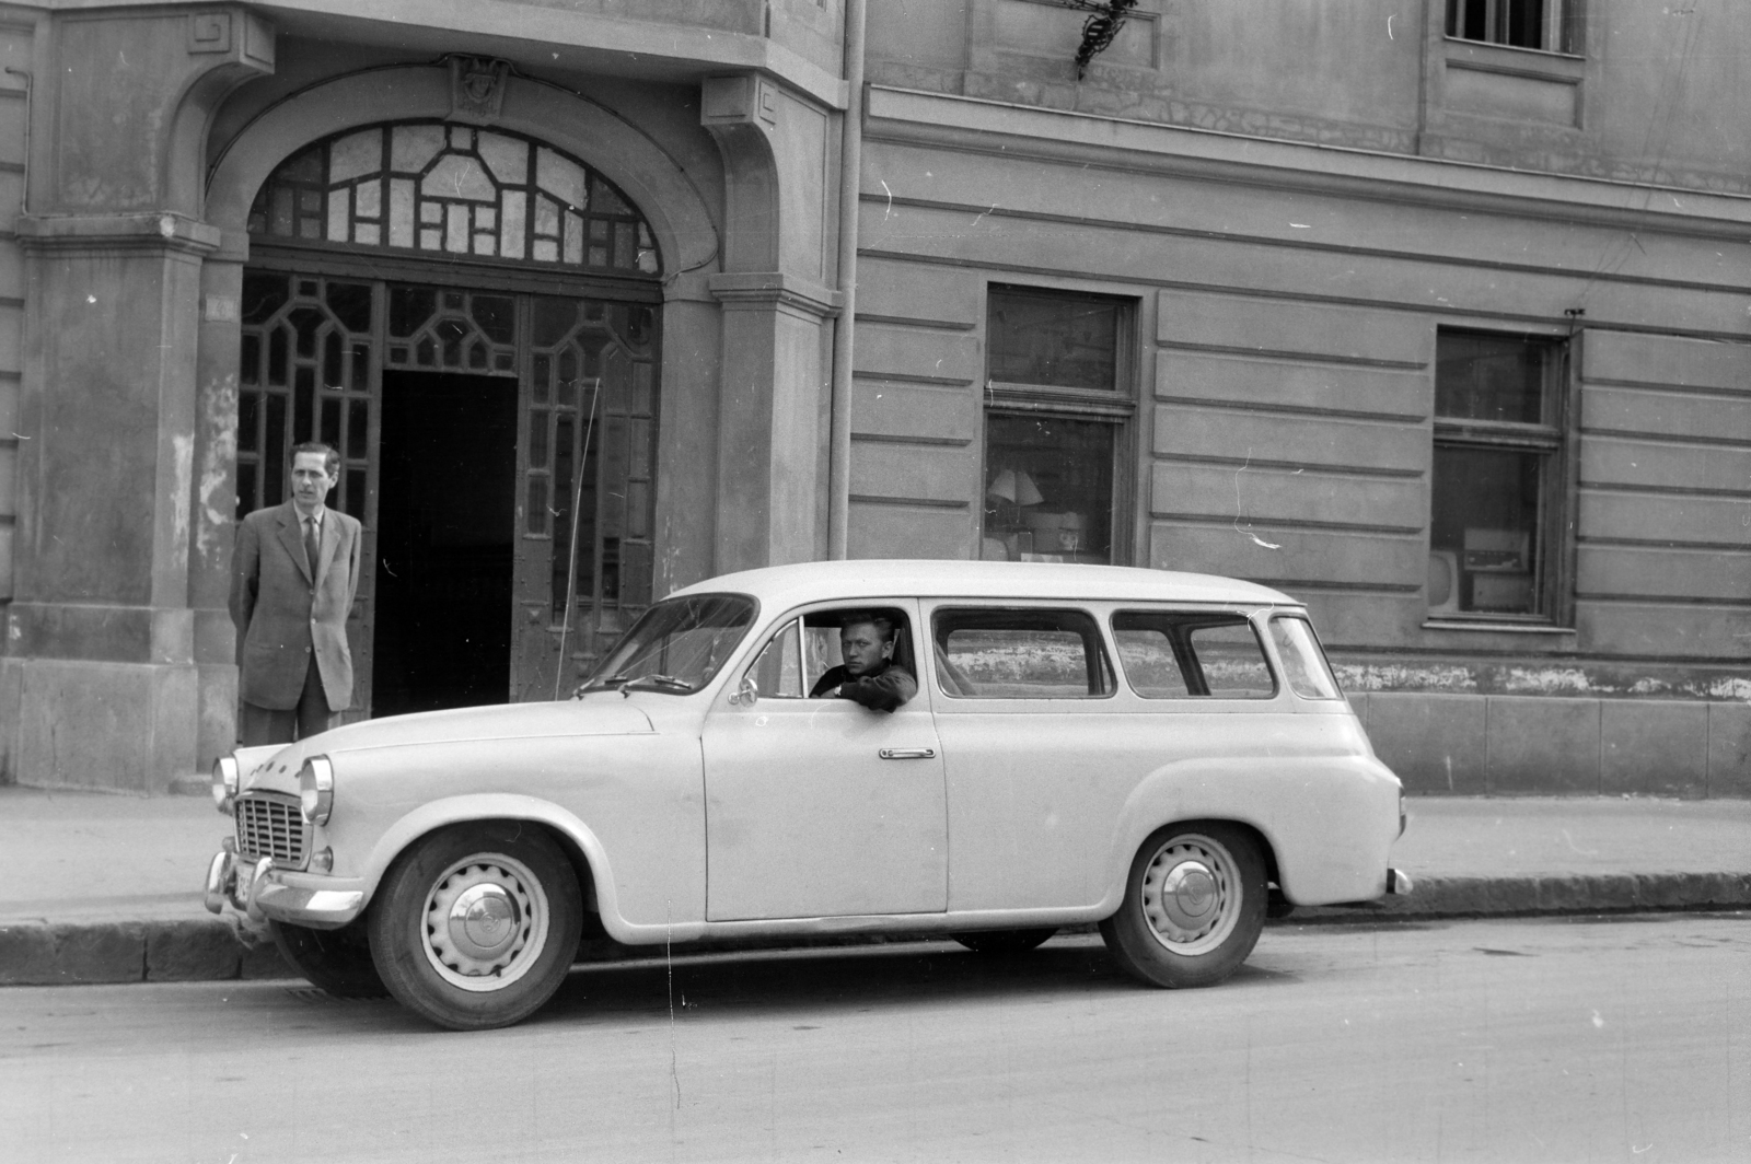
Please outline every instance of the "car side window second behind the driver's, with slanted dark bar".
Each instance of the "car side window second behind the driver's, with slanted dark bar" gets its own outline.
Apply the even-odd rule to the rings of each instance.
[[[1119,665],[1143,698],[1271,698],[1276,681],[1245,614],[1119,611]]]

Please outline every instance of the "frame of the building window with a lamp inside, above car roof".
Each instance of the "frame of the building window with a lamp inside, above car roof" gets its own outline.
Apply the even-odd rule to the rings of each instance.
[[[1112,436],[1112,481],[1107,501],[1107,562],[1128,565],[1135,553],[1133,506],[1136,492],[1135,431],[1138,420],[1138,317],[1142,301],[1136,296],[1110,294],[1082,287],[1052,287],[1042,284],[1009,284],[989,280],[984,287],[984,399],[979,418],[979,495],[972,504],[974,558],[986,543],[986,481],[991,476],[991,417],[1051,415],[1061,420],[1105,424]],[[1058,301],[1091,301],[1117,308],[1114,336],[1114,387],[1080,389],[1068,385],[996,380],[991,376],[991,301],[993,296],[1023,296]],[[932,639],[933,642],[933,639]]]

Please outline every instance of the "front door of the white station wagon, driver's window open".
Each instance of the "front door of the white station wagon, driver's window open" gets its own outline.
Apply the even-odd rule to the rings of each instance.
[[[918,604],[860,607],[904,616],[895,658],[912,662],[916,676]],[[930,695],[919,684],[893,712],[807,698],[818,672],[839,662],[837,632],[823,634],[839,611],[849,606],[788,614],[706,718],[707,921],[947,908],[947,805]]]

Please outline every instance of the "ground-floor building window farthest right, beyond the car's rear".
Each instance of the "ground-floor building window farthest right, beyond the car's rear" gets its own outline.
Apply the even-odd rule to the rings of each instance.
[[[1564,345],[1441,331],[1429,613],[1557,616],[1565,529]]]

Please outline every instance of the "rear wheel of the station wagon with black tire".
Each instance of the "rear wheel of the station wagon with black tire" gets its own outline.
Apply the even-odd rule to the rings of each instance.
[[[1215,985],[1264,929],[1257,838],[1215,821],[1170,824],[1131,861],[1119,912],[1100,924],[1114,961],[1149,985]]]

